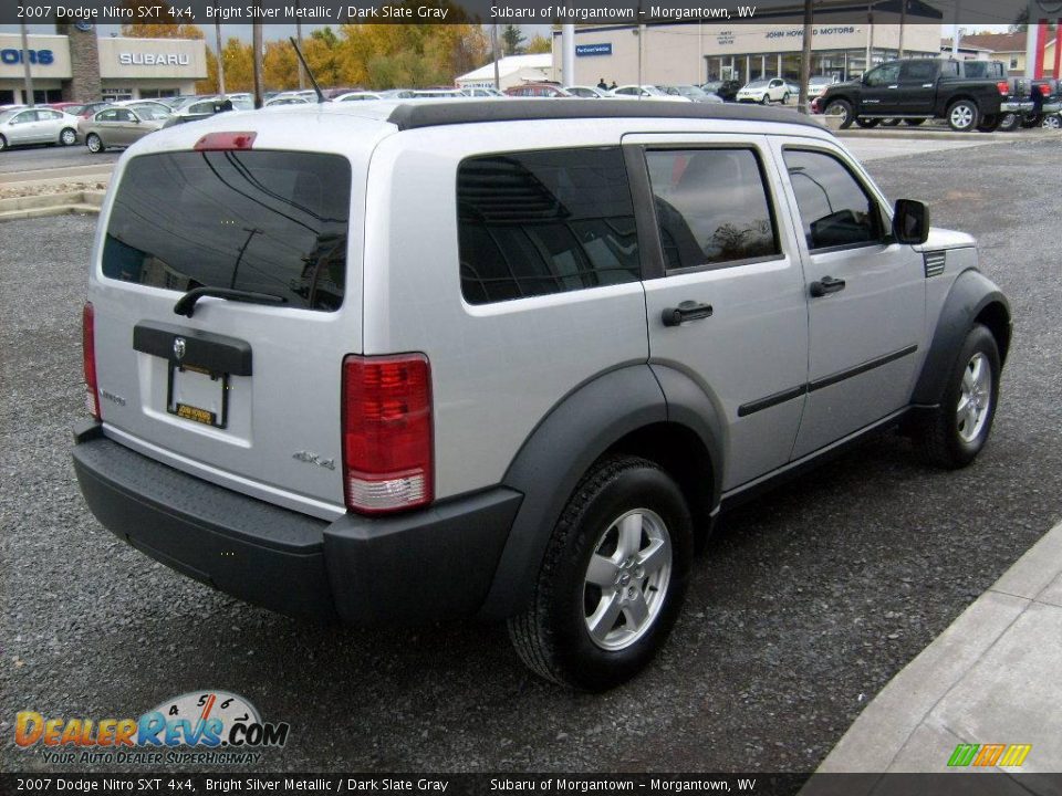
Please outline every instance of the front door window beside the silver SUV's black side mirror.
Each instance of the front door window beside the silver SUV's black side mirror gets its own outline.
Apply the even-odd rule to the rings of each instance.
[[[844,164],[819,151],[785,149],[784,156],[810,251],[885,237],[877,202]]]

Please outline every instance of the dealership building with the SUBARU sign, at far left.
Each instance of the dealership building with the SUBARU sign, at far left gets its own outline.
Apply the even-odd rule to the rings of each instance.
[[[54,35],[30,35],[28,51],[18,33],[0,33],[0,105],[27,102],[23,60],[38,103],[195,94],[207,76],[201,40],[100,39],[94,28],[56,28]]]

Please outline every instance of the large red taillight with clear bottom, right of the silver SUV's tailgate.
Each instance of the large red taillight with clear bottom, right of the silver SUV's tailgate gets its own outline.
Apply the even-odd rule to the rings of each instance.
[[[343,491],[364,514],[434,496],[431,368],[423,354],[343,359]]]

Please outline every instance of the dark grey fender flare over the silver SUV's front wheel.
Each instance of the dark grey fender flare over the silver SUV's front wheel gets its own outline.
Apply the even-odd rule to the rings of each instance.
[[[912,404],[937,406],[944,396],[948,375],[962,341],[986,307],[998,304],[1006,318],[1007,337],[1000,343],[1000,358],[1006,359],[1010,342],[1010,303],[1002,291],[980,271],[968,269],[956,276],[937,318],[929,350],[915,385]],[[993,332],[998,332],[993,329]]]

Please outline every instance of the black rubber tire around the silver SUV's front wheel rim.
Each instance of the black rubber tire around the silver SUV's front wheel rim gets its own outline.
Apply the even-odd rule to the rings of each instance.
[[[970,432],[977,429],[977,425],[966,429],[964,433],[966,423],[970,421],[969,419],[960,421],[958,412],[959,402],[964,398],[964,378],[967,377],[967,370],[978,356],[983,357],[982,362],[989,368],[991,385],[987,390],[982,390],[983,395],[980,395],[977,400],[978,404],[987,400],[987,406],[983,408],[983,421],[978,420],[980,429],[970,437]],[[1000,369],[999,346],[996,344],[996,338],[987,326],[975,324],[967,334],[951,367],[940,407],[933,411],[920,430],[923,454],[929,463],[957,470],[972,462],[981,452],[992,430],[992,420],[996,418]],[[977,418],[980,417],[981,415],[978,413]]]

